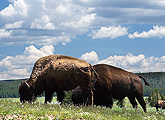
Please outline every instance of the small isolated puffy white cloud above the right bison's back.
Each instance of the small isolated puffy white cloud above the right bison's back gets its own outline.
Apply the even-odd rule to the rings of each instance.
[[[93,31],[93,39],[98,38],[111,38],[114,39],[119,36],[127,35],[127,28],[121,26],[109,26],[109,27],[101,27],[99,30]]]

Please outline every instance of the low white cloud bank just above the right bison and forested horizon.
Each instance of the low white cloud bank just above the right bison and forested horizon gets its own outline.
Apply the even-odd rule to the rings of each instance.
[[[99,64],[109,64],[123,68],[131,72],[160,72],[165,71],[165,56],[146,57],[143,54],[134,56],[131,53],[125,56],[110,56],[104,60],[100,60]]]

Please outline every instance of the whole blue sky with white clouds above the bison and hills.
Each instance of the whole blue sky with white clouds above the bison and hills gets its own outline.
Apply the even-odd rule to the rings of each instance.
[[[165,72],[165,0],[1,0],[0,80],[52,54]]]

